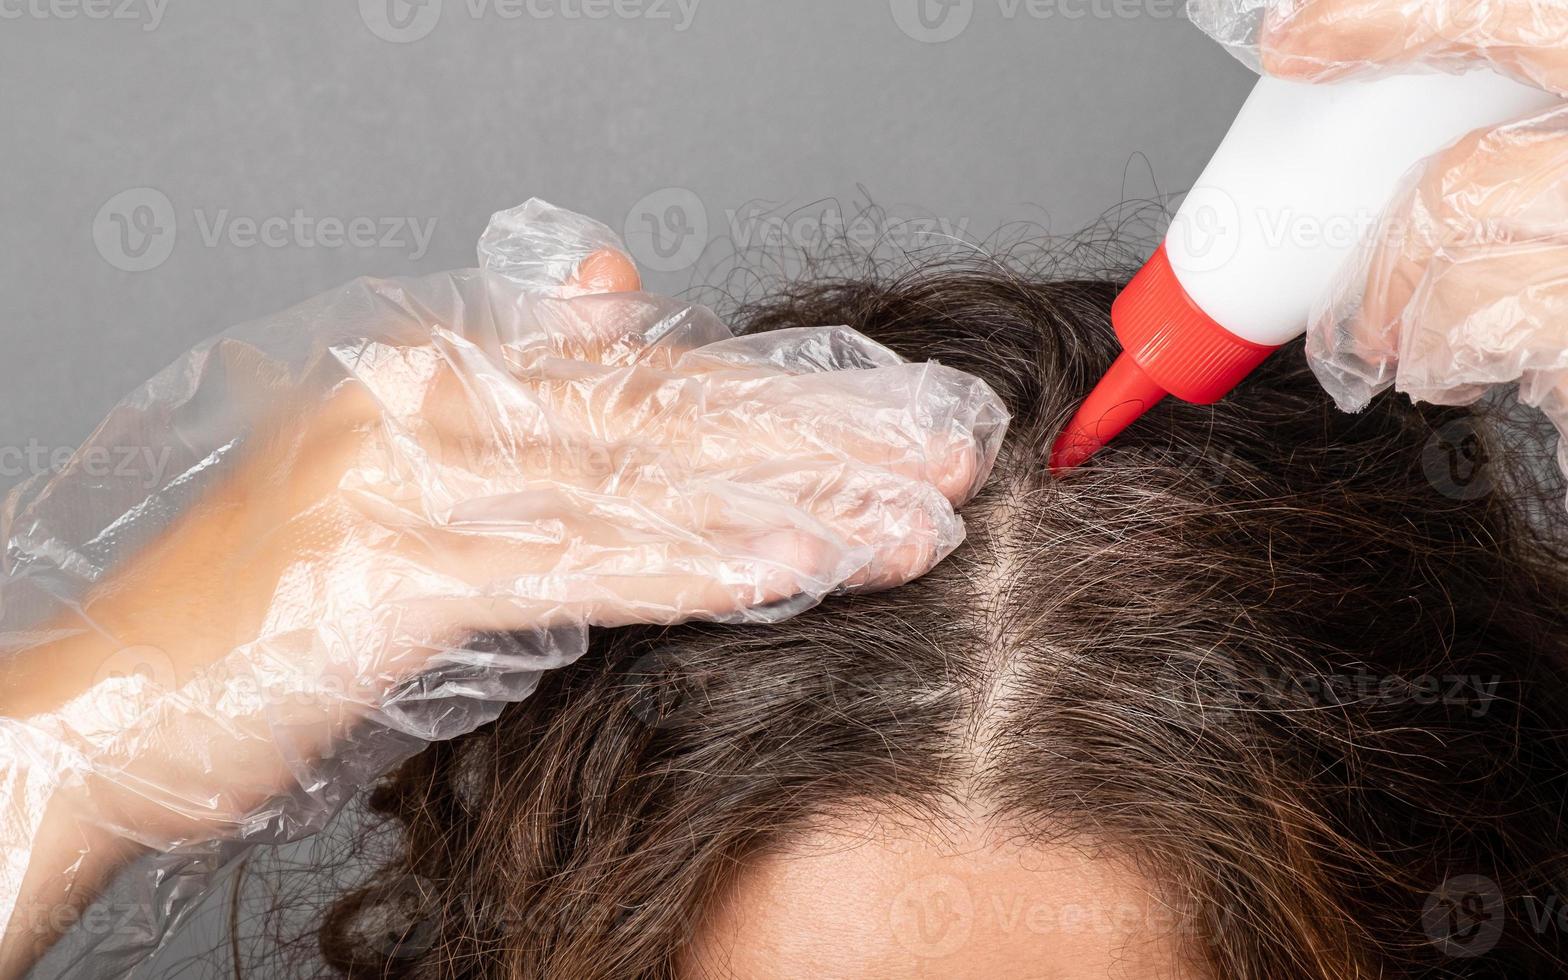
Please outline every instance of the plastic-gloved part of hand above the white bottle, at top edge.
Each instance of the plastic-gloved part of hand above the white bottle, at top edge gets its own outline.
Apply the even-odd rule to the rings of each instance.
[[[1187,16],[1270,75],[1327,82],[1491,66],[1568,94],[1562,0],[1189,0]]]

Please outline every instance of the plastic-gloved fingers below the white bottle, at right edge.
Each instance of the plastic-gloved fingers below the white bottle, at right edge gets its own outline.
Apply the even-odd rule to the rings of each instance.
[[[1568,350],[1568,110],[1466,136],[1383,216],[1312,320],[1308,358],[1334,400],[1396,384],[1468,403]]]

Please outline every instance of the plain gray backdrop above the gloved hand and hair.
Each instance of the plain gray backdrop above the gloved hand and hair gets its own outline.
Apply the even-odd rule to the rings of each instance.
[[[666,292],[869,202],[895,245],[1071,234],[1190,185],[1251,85],[1176,0],[390,0],[403,33],[387,2],[0,0],[0,488],[205,336],[472,265],[528,196],[629,227]],[[434,232],[307,245],[323,218]],[[209,911],[160,975],[221,972]]]

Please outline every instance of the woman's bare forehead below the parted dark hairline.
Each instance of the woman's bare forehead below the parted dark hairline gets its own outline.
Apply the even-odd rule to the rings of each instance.
[[[837,818],[740,872],[682,980],[1198,980],[1192,922],[1126,862],[980,822]]]

